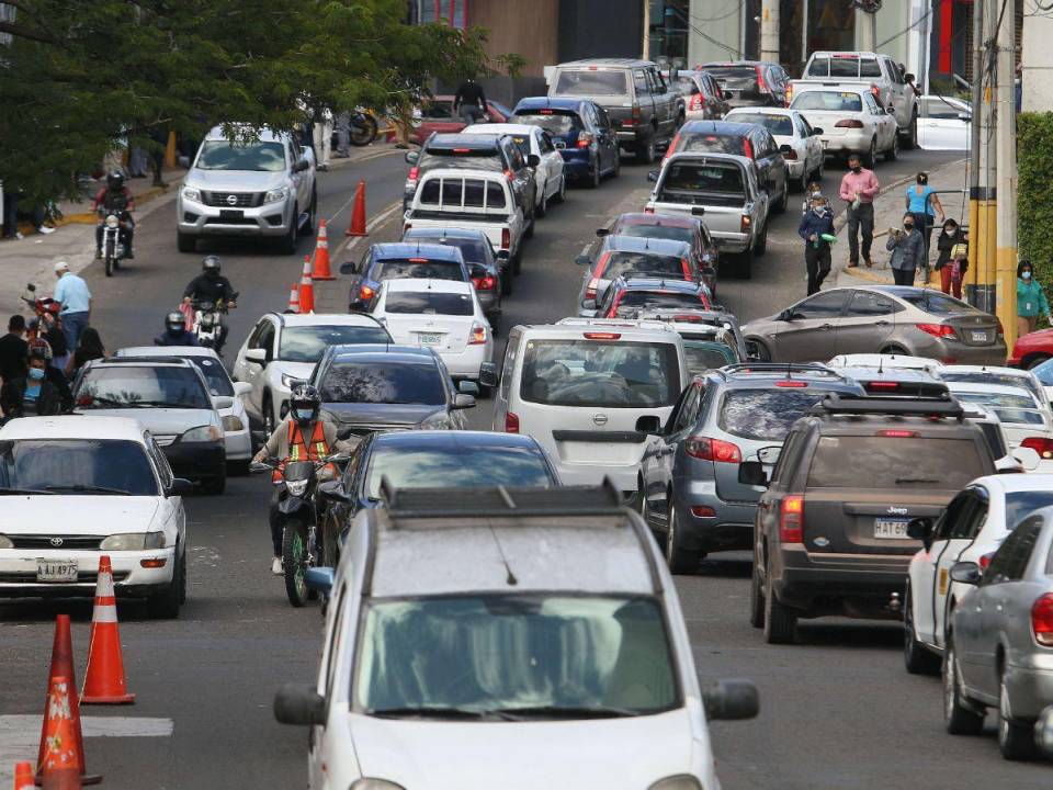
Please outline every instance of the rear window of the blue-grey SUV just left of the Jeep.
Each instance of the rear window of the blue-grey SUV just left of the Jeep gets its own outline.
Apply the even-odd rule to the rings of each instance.
[[[744,439],[782,441],[790,426],[829,394],[806,388],[732,390],[721,405],[721,429]]]

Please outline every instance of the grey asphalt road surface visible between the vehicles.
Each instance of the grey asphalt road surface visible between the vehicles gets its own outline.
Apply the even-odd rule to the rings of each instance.
[[[880,165],[878,174],[888,183],[952,158],[904,154],[898,162]],[[344,206],[333,218],[331,249],[343,242],[346,204],[359,178],[369,183],[370,214],[375,216],[399,199],[406,169],[399,157],[385,155],[320,176],[321,215],[333,216]],[[574,256],[612,214],[642,205],[644,177],[645,168],[629,160],[620,179],[598,191],[571,191],[566,205],[555,206],[539,223],[516,293],[506,302],[505,327],[573,312],[580,278]],[[835,168],[828,168],[828,194],[836,178]],[[769,251],[758,260],[754,279],[721,282],[721,301],[744,320],[804,295],[797,203],[792,200],[786,215],[774,219]],[[396,215],[392,218],[397,221]],[[262,312],[285,306],[310,248],[304,240],[298,256],[282,256],[265,245],[224,241],[195,256],[180,255],[173,222],[173,205],[146,217],[137,233],[138,259],[116,278],[106,280],[98,267],[89,270],[93,320],[109,348],[148,343],[196,273],[202,255],[213,251],[241,292],[230,321],[233,350]],[[370,240],[396,237],[397,222],[378,223]],[[358,247],[354,253],[360,251]],[[335,263],[348,255],[340,250]],[[319,285],[325,307],[339,309],[344,297],[340,281]],[[484,402],[472,421],[487,428],[489,420],[490,404]],[[267,487],[259,478],[233,478],[222,497],[188,499],[190,587],[178,621],[147,620],[134,603],[120,607],[124,659],[137,701],[83,713],[170,719],[173,730],[171,736],[89,737],[88,766],[105,775],[105,787],[256,790],[306,785],[306,733],[274,723],[271,700],[284,681],[314,679],[321,618],[317,607],[293,610],[281,582],[269,573]],[[712,726],[724,787],[1049,786],[1048,766],[1003,760],[992,730],[980,738],[943,732],[939,681],[904,672],[895,625],[816,621],[801,628],[800,645],[766,645],[746,619],[748,578],[748,556],[731,554],[716,555],[698,575],[677,580],[703,677],[751,678],[761,692],[757,720]],[[39,714],[52,622],[60,611],[73,614],[82,678],[90,603],[0,605],[0,783],[8,781],[5,772],[16,757],[35,755],[38,722],[26,727],[26,720],[7,716]],[[12,735],[12,722],[20,722],[23,732]]]

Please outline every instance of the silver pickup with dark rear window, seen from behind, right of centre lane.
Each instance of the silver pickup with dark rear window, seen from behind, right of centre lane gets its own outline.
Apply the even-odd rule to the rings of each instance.
[[[724,269],[735,256],[735,273],[752,276],[754,256],[768,247],[768,193],[751,159],[732,154],[673,154],[655,182],[648,214],[701,217],[721,252]]]

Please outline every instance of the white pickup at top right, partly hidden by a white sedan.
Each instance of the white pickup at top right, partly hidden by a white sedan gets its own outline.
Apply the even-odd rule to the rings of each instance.
[[[831,87],[860,86],[870,90],[881,106],[896,119],[902,148],[918,147],[918,94],[910,84],[914,75],[904,74],[887,55],[867,52],[816,52],[804,67],[804,76],[791,80],[786,106],[797,86],[817,82]]]

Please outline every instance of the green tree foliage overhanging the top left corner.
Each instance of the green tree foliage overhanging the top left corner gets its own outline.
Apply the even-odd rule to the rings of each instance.
[[[292,128],[316,108],[397,109],[491,72],[483,30],[405,24],[405,0],[5,0],[0,178],[73,196],[121,140],[218,123]]]

